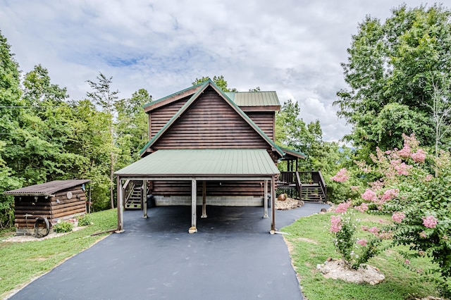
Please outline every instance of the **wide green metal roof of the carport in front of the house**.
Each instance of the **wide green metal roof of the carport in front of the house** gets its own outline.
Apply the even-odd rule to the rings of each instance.
[[[279,170],[265,149],[159,150],[116,171],[122,176],[261,176]]]

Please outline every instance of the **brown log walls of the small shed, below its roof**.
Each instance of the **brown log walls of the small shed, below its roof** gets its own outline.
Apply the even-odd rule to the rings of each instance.
[[[67,198],[67,192],[72,192],[72,198]],[[56,218],[86,213],[86,194],[80,187],[73,187],[56,192],[47,199],[39,196],[14,196],[14,218],[18,229],[32,229],[37,217],[47,217],[49,223]],[[25,218],[25,214],[32,215]],[[27,225],[28,220],[28,225]]]

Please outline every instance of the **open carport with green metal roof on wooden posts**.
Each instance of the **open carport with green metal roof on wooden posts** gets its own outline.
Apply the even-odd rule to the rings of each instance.
[[[266,149],[161,149],[118,170],[118,230],[124,230],[124,191],[131,180],[142,180],[143,194],[147,181],[191,182],[191,227],[197,231],[197,182],[259,181],[264,182],[264,218],[268,218],[268,197],[271,194],[271,231],[276,230],[275,200],[276,175],[280,174]],[[268,186],[270,191],[268,193]],[[202,218],[206,218],[206,189],[202,189]],[[144,201],[144,218],[147,203]]]

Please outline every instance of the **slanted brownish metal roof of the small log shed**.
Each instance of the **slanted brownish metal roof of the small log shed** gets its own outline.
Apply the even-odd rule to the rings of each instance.
[[[5,195],[16,196],[50,196],[63,189],[82,185],[91,180],[55,180],[51,182],[45,182],[40,185],[30,185],[30,187],[23,187],[21,189],[13,189],[8,192],[4,192]]]

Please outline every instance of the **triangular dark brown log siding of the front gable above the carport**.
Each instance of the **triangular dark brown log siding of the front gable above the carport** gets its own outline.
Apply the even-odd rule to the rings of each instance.
[[[266,141],[211,88],[206,89],[152,146],[154,150],[268,147]]]

